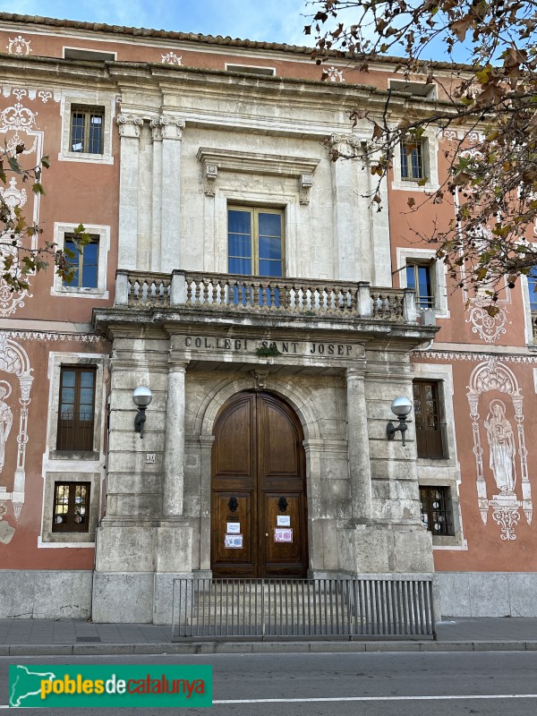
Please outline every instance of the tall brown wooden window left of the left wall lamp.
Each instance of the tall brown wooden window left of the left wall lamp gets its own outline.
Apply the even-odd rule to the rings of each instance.
[[[93,450],[95,376],[92,367],[62,366],[56,450]]]

